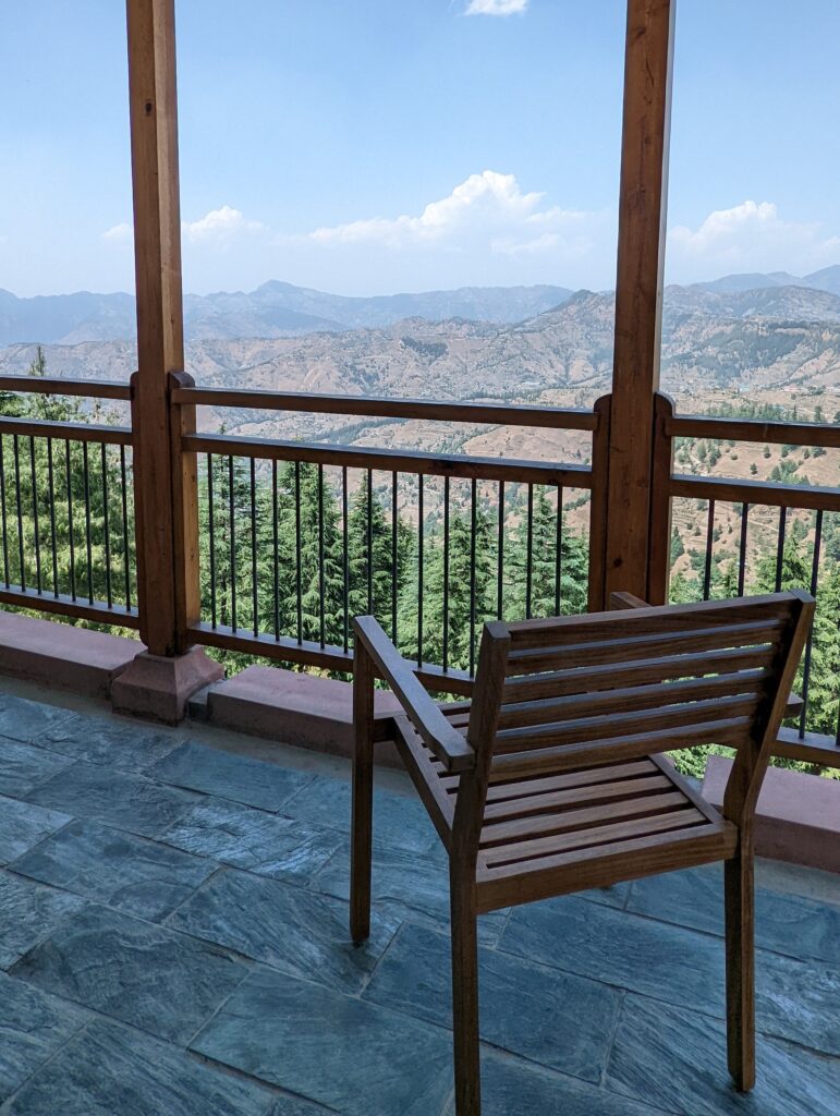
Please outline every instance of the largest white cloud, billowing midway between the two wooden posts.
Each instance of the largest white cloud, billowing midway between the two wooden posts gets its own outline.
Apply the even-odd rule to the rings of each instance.
[[[523,193],[513,174],[471,174],[451,194],[429,202],[417,215],[376,217],[315,229],[293,241],[377,244],[389,249],[456,248],[483,241],[505,254],[556,248],[577,234],[592,215],[545,205],[544,194]]]

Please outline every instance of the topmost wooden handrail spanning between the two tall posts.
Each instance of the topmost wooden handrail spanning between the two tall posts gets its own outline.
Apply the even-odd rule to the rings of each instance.
[[[249,388],[177,387],[174,404],[251,407],[264,411],[307,411],[312,414],[360,415],[368,419],[444,419],[505,426],[549,427],[595,432],[599,415],[572,407],[544,407],[451,400],[387,400],[367,395],[321,395],[316,392],[258,392]]]

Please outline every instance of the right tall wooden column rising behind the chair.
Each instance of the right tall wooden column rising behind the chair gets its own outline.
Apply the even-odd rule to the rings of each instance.
[[[676,0],[629,0],[605,598],[648,593]]]

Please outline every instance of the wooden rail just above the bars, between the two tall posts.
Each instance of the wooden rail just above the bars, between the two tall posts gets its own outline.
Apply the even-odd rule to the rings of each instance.
[[[421,450],[376,450],[366,445],[337,446],[321,442],[245,439],[230,434],[184,434],[182,445],[193,453],[211,453],[267,461],[306,461],[397,473],[460,477],[483,481],[528,481],[563,488],[592,487],[589,465],[426,453]]]

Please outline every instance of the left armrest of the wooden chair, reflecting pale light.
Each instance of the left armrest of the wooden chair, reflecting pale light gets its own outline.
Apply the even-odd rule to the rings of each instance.
[[[373,616],[357,616],[353,627],[357,647],[370,656],[377,673],[390,685],[412,724],[446,770],[473,768],[475,752],[429,698],[379,623]]]

